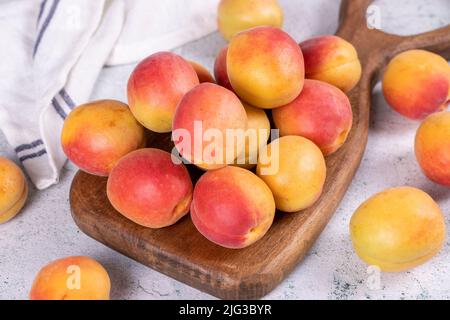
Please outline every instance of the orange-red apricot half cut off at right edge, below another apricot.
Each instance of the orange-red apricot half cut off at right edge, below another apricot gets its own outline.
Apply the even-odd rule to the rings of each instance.
[[[425,175],[450,187],[450,112],[429,115],[417,130],[415,145]]]

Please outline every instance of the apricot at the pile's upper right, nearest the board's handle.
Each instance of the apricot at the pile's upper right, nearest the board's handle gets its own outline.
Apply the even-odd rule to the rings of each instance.
[[[332,84],[345,93],[361,78],[361,62],[355,47],[344,39],[319,36],[300,43],[305,58],[307,79]]]

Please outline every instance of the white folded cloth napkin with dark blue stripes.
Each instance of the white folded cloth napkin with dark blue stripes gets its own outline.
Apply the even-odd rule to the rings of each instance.
[[[63,121],[89,100],[103,66],[213,32],[217,2],[0,2],[0,129],[38,189],[58,182]]]

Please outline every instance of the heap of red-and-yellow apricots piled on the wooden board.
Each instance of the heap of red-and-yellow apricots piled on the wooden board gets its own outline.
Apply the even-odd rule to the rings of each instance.
[[[109,201],[133,222],[163,228],[190,212],[207,239],[237,249],[265,235],[276,209],[298,212],[319,199],[324,157],[352,126],[342,90],[356,85],[361,66],[353,46],[335,36],[299,45],[266,25],[230,39],[215,80],[174,53],[147,57],[129,78],[129,107],[103,100],[75,108],[62,145],[82,170],[108,176]],[[269,140],[271,128],[281,137]],[[172,132],[172,154],[145,148],[146,130]],[[241,143],[229,132],[242,133]],[[195,186],[192,165],[204,171]]]

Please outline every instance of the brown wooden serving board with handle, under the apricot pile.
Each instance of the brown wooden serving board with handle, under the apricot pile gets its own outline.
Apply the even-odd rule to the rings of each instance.
[[[274,289],[302,260],[317,239],[359,166],[367,141],[371,90],[395,54],[425,48],[450,58],[450,26],[410,37],[369,30],[365,13],[371,1],[344,0],[337,35],[356,47],[363,65],[358,86],[349,94],[353,129],[346,144],[328,157],[328,176],[320,200],[295,214],[278,214],[260,241],[242,249],[206,240],[189,216],[159,230],[134,224],[116,212],[106,197],[106,179],[78,172],[70,191],[72,215],[86,234],[161,273],[224,299],[256,299]],[[150,137],[150,145],[171,149],[170,135]],[[192,166],[193,179],[201,174]]]

